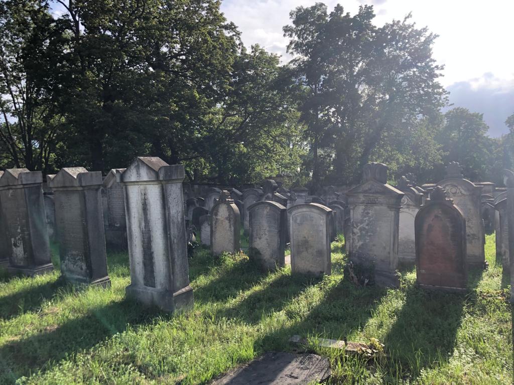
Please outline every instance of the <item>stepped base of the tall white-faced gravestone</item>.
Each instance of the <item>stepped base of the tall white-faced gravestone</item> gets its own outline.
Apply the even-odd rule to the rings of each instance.
[[[186,286],[182,290],[172,293],[158,290],[148,286],[128,285],[125,288],[128,298],[135,299],[143,304],[152,304],[165,312],[174,312],[193,306],[193,288]]]

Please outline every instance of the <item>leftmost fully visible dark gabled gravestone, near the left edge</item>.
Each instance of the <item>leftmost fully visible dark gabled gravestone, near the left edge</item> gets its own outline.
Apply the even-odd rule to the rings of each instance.
[[[1,220],[5,226],[7,270],[33,276],[53,269],[46,227],[41,171],[5,170],[0,178]]]

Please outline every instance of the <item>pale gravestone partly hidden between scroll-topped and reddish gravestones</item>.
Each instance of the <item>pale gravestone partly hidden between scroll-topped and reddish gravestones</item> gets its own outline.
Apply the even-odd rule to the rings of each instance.
[[[405,194],[400,202],[398,262],[414,265],[416,262],[414,218],[423,204],[423,194],[420,194],[405,176],[401,177],[397,188]]]

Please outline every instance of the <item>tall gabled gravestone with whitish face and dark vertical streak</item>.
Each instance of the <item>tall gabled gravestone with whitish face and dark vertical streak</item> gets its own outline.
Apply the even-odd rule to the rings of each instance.
[[[138,157],[120,175],[130,257],[128,297],[174,311],[193,304],[189,285],[184,167]]]

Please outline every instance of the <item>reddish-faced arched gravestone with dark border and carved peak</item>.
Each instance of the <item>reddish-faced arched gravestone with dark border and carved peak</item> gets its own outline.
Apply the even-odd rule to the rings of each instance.
[[[421,287],[465,290],[466,220],[437,186],[415,220],[416,279]]]

